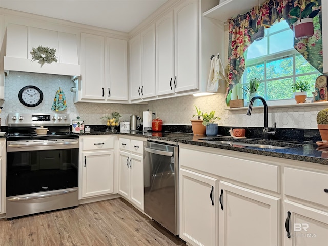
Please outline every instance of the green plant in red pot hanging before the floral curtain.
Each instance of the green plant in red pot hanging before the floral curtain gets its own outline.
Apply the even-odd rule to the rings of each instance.
[[[303,1],[300,0],[299,4],[302,6]],[[303,10],[300,6],[290,10],[289,15],[294,18],[290,19],[289,22],[293,25],[296,40],[313,36],[313,18],[320,12],[320,9],[312,10],[312,7],[315,5],[316,2],[310,2]]]

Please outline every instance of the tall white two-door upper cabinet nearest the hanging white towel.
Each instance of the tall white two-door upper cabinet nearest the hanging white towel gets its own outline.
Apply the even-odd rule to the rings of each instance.
[[[156,21],[156,95],[198,88],[197,1],[186,1]]]

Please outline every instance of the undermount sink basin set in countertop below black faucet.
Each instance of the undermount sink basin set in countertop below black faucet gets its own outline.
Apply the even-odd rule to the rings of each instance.
[[[253,148],[262,148],[262,149],[288,149],[291,146],[280,146],[280,145],[271,145],[271,144],[261,144],[256,140],[248,139],[250,142],[243,142],[243,139],[231,139],[227,141],[227,139],[222,140],[222,138],[201,138],[198,140],[202,141],[211,141],[213,144],[219,145],[230,145],[232,147],[253,147]]]

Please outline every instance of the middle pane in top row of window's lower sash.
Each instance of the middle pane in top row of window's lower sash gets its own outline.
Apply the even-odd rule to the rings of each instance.
[[[267,79],[293,75],[293,57],[267,63]]]

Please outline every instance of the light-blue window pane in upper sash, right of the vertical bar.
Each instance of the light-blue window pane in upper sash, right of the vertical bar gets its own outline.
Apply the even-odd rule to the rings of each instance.
[[[294,48],[294,33],[291,29],[271,35],[269,53],[277,53]]]

